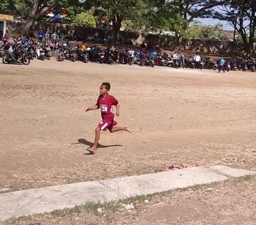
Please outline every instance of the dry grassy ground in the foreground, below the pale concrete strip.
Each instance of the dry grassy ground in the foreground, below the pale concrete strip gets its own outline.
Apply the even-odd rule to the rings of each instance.
[[[40,222],[54,225],[126,224],[126,225],[253,225],[256,224],[256,178],[233,179],[221,184],[133,198],[134,210],[126,211],[121,203],[87,205],[5,221],[3,225]],[[145,200],[147,202],[145,202]]]

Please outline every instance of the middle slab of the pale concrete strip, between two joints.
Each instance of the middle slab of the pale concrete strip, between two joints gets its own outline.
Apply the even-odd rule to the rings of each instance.
[[[209,184],[226,179],[228,179],[227,176],[217,174],[209,168],[191,167],[183,170],[103,180],[101,182],[112,189],[118,190],[127,197],[132,197],[194,185]]]

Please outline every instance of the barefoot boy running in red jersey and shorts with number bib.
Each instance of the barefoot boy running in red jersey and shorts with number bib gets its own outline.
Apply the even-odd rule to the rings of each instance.
[[[110,90],[109,82],[103,82],[100,86],[100,96],[98,98],[97,104],[89,107],[86,112],[91,110],[101,111],[102,121],[98,124],[98,127],[95,129],[95,140],[92,147],[87,148],[87,150],[94,154],[94,151],[97,150],[99,140],[100,140],[100,131],[106,131],[107,129],[110,133],[116,131],[127,131],[131,133],[131,130],[127,127],[115,127],[117,122],[114,120],[115,114],[112,112],[113,106],[116,107],[116,116],[119,116],[119,103],[117,99],[108,94]]]

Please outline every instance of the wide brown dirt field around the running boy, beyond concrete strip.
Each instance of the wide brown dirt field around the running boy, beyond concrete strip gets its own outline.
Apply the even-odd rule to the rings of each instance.
[[[87,155],[101,82],[118,124]],[[8,191],[161,171],[166,164],[256,170],[256,73],[81,62],[0,64],[0,188]],[[191,223],[194,224],[194,223]]]

